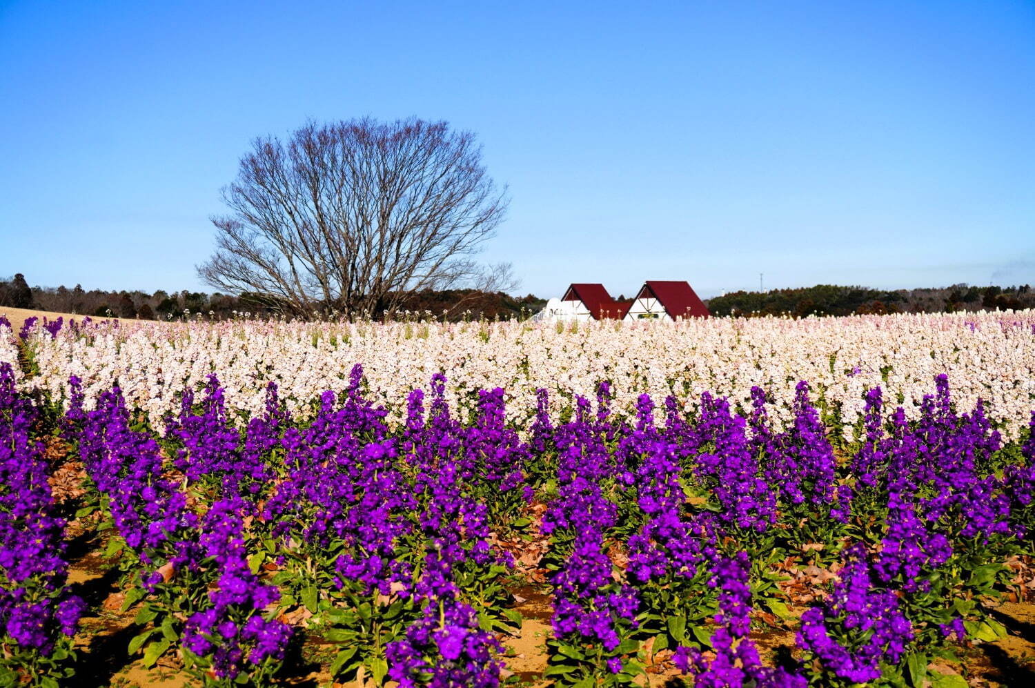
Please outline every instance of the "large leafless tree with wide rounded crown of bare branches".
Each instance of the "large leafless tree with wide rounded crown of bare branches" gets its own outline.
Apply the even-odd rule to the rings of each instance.
[[[223,197],[233,214],[212,218],[216,251],[199,274],[294,315],[380,315],[416,291],[499,276],[472,257],[506,189],[474,136],[445,122],[310,122],[286,143],[257,139]]]

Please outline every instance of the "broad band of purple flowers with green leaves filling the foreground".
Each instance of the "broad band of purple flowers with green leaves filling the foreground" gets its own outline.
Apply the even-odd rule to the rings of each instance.
[[[115,534],[109,551],[139,608],[131,649],[149,662],[178,653],[212,684],[272,681],[305,626],[338,644],[337,678],[498,685],[501,639],[520,624],[500,542],[538,527],[554,596],[546,674],[559,685],[631,685],[648,658],[705,686],[920,685],[898,667],[995,634],[978,600],[1003,589],[1007,557],[1030,550],[1035,442],[1003,447],[980,402],[956,412],[945,376],[914,423],[870,391],[849,455],[805,383],[779,432],[761,389],[742,413],[705,394],[693,417],[674,399],[656,414],[645,395],[626,419],[602,384],[595,409],[579,398],[558,424],[540,392],[526,437],[507,425],[502,389],[482,391],[462,421],[445,384],[432,380],[430,408],[414,390],[397,429],[363,398],[359,366],[305,423],[271,385],[241,429],[212,376],[159,436],[118,388],[86,411],[76,379],[60,428],[47,428],[46,405],[0,367],[4,665],[67,672],[83,612],[65,585],[50,430],[86,468],[81,513],[96,509]],[[537,499],[548,508],[529,524]],[[770,584],[788,556],[837,577],[800,615],[802,652],[768,666],[752,611],[786,611]]]

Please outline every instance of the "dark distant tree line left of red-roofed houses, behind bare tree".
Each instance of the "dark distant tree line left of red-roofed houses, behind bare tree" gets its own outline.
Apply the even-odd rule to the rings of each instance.
[[[473,289],[424,290],[407,296],[402,311],[421,316],[431,311],[438,319],[463,318],[506,319],[531,315],[545,305],[545,300],[531,294],[512,297],[503,292],[482,292]],[[139,318],[141,320],[177,320],[205,318],[226,320],[241,313],[270,317],[282,309],[269,296],[259,294],[206,294],[204,292],[166,292],[84,290],[80,285],[67,287],[29,287],[21,273],[0,279],[0,307],[34,308],[53,312],[70,312],[97,318]]]

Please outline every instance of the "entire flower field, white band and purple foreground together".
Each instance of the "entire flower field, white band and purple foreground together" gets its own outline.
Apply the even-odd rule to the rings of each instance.
[[[987,685],[1033,381],[1031,311],[0,319],[0,685]]]

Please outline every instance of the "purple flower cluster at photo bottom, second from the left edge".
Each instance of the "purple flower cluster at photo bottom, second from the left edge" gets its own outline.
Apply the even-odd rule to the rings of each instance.
[[[196,611],[183,630],[183,647],[207,657],[220,679],[247,674],[247,665],[284,659],[291,626],[262,612],[279,597],[276,586],[263,584],[248,568],[240,498],[212,504],[202,522],[201,546],[219,575],[209,592],[211,607]]]

